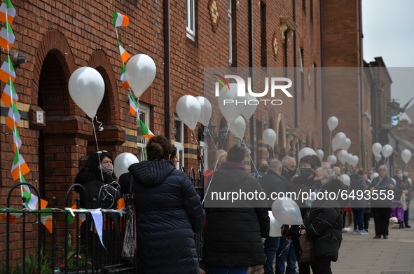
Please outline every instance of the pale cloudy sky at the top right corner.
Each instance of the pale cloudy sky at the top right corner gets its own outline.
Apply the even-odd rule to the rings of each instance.
[[[364,60],[382,57],[393,81],[391,97],[401,107],[414,97],[413,13],[414,0],[362,0]]]

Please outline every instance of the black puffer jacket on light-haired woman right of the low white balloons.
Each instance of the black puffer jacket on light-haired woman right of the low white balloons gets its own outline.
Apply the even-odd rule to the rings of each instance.
[[[338,194],[347,191],[347,186],[338,179],[333,179],[322,186],[320,192]],[[329,194],[328,194],[329,195]],[[331,196],[332,198],[332,196]],[[315,256],[338,260],[342,242],[342,219],[346,200],[341,195],[337,199],[316,199],[303,220],[306,234],[315,242]]]

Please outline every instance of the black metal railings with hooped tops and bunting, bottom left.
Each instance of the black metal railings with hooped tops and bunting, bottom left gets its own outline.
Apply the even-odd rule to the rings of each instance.
[[[191,168],[188,178],[202,198],[202,172]],[[22,184],[28,185],[34,190],[34,195],[41,197],[39,190],[28,183],[16,184],[8,192],[6,210],[2,211],[2,214],[6,215],[6,222],[0,221],[0,231],[4,231],[6,226],[6,242],[0,244],[0,258],[6,261],[0,262],[0,274],[136,273],[134,265],[128,264],[120,256],[125,219],[118,212],[102,210],[102,242],[105,246],[103,247],[92,221],[92,214],[88,210],[78,210],[79,198],[76,198],[76,210],[69,204],[69,201],[74,203],[69,194],[75,187],[85,191],[83,186],[74,184],[70,187],[65,196],[63,210],[56,207],[57,199],[53,198],[52,208],[47,213],[27,210],[25,206],[19,212],[11,211],[10,201],[11,198],[15,198],[11,194]],[[25,205],[25,197],[22,197],[22,201]],[[17,221],[13,219],[16,216]],[[42,224],[47,217],[51,217],[50,232]],[[203,238],[204,231],[194,235],[200,267],[205,269],[201,263]]]

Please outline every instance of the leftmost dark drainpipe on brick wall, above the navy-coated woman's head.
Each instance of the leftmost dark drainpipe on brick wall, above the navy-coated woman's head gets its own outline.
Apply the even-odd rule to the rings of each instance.
[[[170,0],[164,0],[164,95],[165,137],[171,141]]]

